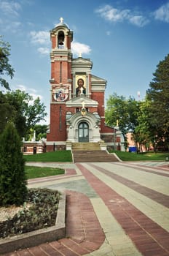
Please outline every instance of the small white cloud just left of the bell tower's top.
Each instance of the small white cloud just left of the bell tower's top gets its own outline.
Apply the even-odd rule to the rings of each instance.
[[[48,31],[31,31],[31,42],[46,45],[50,43],[50,32]]]

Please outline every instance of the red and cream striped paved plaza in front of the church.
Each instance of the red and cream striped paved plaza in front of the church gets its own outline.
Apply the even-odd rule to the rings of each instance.
[[[30,180],[28,187],[66,191],[66,238],[5,256],[169,255],[166,162],[47,165],[66,174]]]

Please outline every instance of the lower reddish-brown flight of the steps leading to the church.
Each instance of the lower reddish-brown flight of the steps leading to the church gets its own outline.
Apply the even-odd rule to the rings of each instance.
[[[72,151],[74,162],[119,162],[114,154],[106,151]]]

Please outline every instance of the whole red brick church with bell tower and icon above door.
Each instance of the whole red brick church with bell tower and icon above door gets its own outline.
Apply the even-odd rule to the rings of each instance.
[[[74,143],[100,143],[104,148],[124,149],[118,127],[105,124],[106,80],[91,73],[93,62],[71,53],[73,31],[60,18],[50,31],[50,126],[47,151],[71,149]]]

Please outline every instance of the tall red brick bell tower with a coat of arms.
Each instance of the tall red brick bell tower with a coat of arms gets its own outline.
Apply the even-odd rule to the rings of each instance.
[[[66,100],[71,99],[71,41],[73,40],[73,32],[63,22],[63,18],[60,18],[60,23],[50,31],[50,40],[52,42],[50,52],[51,99],[50,129],[47,133],[47,140],[52,147],[55,141],[66,140]]]

